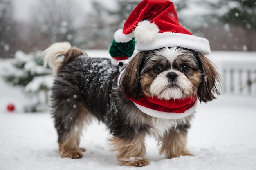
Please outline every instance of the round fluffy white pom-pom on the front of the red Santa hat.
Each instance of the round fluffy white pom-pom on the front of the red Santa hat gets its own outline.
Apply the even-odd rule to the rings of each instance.
[[[148,20],[143,20],[138,23],[134,29],[135,40],[143,44],[151,44],[156,38],[159,32],[158,26]]]

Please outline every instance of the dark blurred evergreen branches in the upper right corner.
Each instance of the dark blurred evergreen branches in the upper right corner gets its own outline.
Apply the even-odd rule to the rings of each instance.
[[[255,0],[219,0],[215,3],[210,2],[209,6],[215,10],[212,15],[218,19],[218,22],[222,23],[224,30],[229,32],[230,37],[240,41],[240,49],[256,50]],[[244,33],[243,38],[239,40],[235,38],[238,36],[238,32],[236,32],[238,29],[242,29]],[[234,49],[236,50],[237,47]]]

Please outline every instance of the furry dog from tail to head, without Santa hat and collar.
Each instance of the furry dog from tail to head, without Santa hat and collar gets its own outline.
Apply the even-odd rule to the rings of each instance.
[[[194,93],[200,102],[218,94],[218,72],[207,57],[181,47],[141,51],[124,68],[110,59],[90,58],[69,43],[56,43],[45,50],[45,64],[56,75],[52,86],[52,115],[62,157],[80,158],[83,127],[96,117],[112,135],[110,145],[118,151],[120,165],[146,166],[145,136],[152,135],[167,158],[191,155],[186,149],[193,114],[182,119],[162,119],[141,112],[128,99],[143,94],[159,99],[183,99]],[[64,56],[64,57],[63,57]]]

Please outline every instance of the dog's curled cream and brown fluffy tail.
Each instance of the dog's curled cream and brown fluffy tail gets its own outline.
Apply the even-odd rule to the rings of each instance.
[[[80,55],[87,56],[83,50],[72,47],[69,42],[57,42],[43,51],[44,66],[49,64],[52,68],[52,73],[56,75],[61,65],[68,64]]]

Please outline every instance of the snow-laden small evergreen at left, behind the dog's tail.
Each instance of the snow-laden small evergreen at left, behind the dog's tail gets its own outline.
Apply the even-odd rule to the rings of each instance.
[[[43,66],[41,51],[29,55],[17,51],[11,65],[3,68],[2,78],[12,86],[24,88],[25,94],[33,100],[31,104],[25,106],[25,111],[47,110],[52,70]]]

